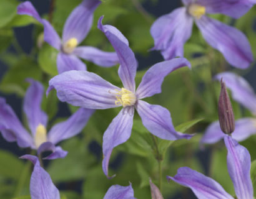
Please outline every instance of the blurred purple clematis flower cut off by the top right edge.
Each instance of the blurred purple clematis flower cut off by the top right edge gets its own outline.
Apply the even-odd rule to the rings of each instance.
[[[165,60],[183,57],[184,44],[192,33],[193,21],[204,39],[219,50],[237,68],[247,68],[254,60],[249,41],[240,30],[222,24],[205,14],[222,13],[239,18],[249,11],[255,0],[182,0],[180,7],[159,17],[150,29],[154,38],[153,50],[160,50]]]

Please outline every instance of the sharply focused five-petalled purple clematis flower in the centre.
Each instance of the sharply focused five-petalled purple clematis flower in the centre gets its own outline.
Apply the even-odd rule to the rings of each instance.
[[[47,92],[55,88],[61,101],[82,106],[84,108],[107,109],[122,106],[120,113],[114,118],[103,136],[102,167],[108,175],[108,165],[114,147],[127,141],[132,131],[134,109],[139,113],[144,126],[157,137],[167,140],[189,139],[192,135],[175,131],[167,109],[142,101],[142,98],[161,92],[162,81],[170,72],[180,67],[190,66],[185,58],[175,58],[160,62],[149,68],[135,91],[135,75],[137,62],[129,48],[128,41],[116,27],[102,25],[104,32],[117,52],[121,63],[118,74],[123,88],[112,85],[95,73],[86,71],[70,71],[57,75],[49,81]]]

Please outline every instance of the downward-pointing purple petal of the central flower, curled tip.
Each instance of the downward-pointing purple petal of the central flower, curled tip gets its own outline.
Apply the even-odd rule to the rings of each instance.
[[[130,133],[132,132],[132,124],[134,118],[134,107],[123,108],[119,114],[114,118],[107,127],[103,136],[103,161],[102,169],[105,175],[109,177],[109,159],[111,157],[111,152],[114,147],[126,142]],[[114,176],[112,176],[114,177]]]

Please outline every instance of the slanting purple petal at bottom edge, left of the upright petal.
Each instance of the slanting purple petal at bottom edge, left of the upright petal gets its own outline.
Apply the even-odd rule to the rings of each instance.
[[[167,180],[191,188],[199,199],[234,199],[218,182],[189,167],[180,167],[177,174],[167,176]]]

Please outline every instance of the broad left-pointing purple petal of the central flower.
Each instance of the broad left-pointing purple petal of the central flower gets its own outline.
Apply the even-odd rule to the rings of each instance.
[[[89,109],[107,109],[117,107],[117,86],[87,71],[69,71],[56,75],[49,81],[47,93],[53,88],[57,97],[73,106]]]

